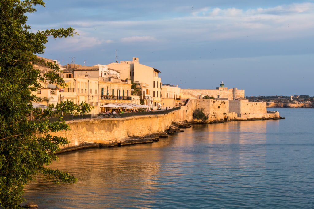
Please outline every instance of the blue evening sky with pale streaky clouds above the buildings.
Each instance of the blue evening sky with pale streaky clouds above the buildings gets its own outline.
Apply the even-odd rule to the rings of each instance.
[[[48,40],[40,56],[61,65],[138,57],[181,88],[223,81],[246,96],[314,96],[314,0],[46,0],[36,8],[32,31],[80,34]]]

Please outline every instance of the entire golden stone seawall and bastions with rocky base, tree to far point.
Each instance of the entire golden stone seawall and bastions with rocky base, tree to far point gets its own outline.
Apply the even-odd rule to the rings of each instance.
[[[206,114],[206,120],[193,118],[193,112],[198,108]],[[230,112],[229,109],[238,113]],[[119,117],[101,117],[97,114],[84,117],[66,121],[70,130],[50,133],[67,137],[70,141],[61,148],[61,152],[158,141],[160,136],[166,135],[174,122],[221,123],[280,119],[279,112],[267,111],[266,103],[263,102],[239,101],[230,104],[229,101],[214,99],[191,99],[185,106],[164,111],[123,113]]]

